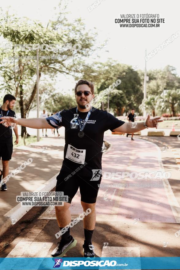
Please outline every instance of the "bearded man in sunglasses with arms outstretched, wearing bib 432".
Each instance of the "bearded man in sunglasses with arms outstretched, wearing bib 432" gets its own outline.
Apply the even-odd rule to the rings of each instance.
[[[46,119],[2,117],[2,121],[0,121],[0,124],[5,123],[6,126],[17,123],[34,129],[65,127],[64,160],[56,178],[56,191],[63,192],[63,196],[68,197],[68,202],[64,202],[63,206],[55,206],[56,218],[60,228],[55,236],[56,238],[61,236],[61,240],[52,251],[52,257],[63,257],[77,243],[70,234],[70,227],[74,226],[74,222],[71,222],[69,206],[78,188],[84,211],[81,214],[85,236],[84,257],[95,256],[91,239],[96,222],[95,204],[99,190],[98,184],[101,183],[102,177],[101,158],[104,132],[110,129],[111,131],[132,133],[148,127],[157,128],[157,123],[163,121],[160,120],[160,117],[150,119],[148,115],[146,121],[138,122],[136,128],[132,128],[131,123],[118,120],[107,111],[87,106],[93,98],[93,83],[87,80],[79,80],[75,86],[77,107],[61,110]],[[77,224],[77,219],[74,221]]]

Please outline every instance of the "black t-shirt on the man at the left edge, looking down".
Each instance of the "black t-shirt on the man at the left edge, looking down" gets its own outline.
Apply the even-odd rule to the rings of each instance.
[[[12,116],[14,117],[15,112],[12,110],[8,111],[2,110],[0,108],[0,117],[2,116]],[[2,119],[0,119],[2,121]],[[11,127],[5,127],[4,125],[0,124],[0,143],[12,143],[13,142],[13,135],[12,135],[12,128]]]

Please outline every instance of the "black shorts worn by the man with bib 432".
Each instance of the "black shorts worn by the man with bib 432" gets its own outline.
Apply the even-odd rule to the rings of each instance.
[[[68,203],[71,203],[79,188],[82,202],[95,203],[102,175],[96,181],[90,181],[92,176],[80,176],[78,173],[71,177],[68,177],[69,175],[69,172],[60,171],[56,177],[56,191],[64,192],[64,196],[68,195]]]

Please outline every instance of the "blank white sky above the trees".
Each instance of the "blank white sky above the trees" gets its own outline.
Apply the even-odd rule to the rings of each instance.
[[[108,47],[101,49],[98,53],[101,56],[99,61],[105,62],[108,57],[118,60],[120,63],[129,65],[138,65],[144,69],[145,48],[147,53],[158,47],[168,37],[180,30],[179,10],[180,1],[171,0],[105,0],[91,12],[88,6],[92,5],[94,0],[76,0],[69,1],[68,10],[69,20],[73,22],[74,18],[82,17],[86,24],[86,29],[97,28],[98,44],[102,44],[108,39]],[[17,15],[26,16],[31,19],[46,23],[54,17],[59,0],[6,0],[1,2],[0,6],[4,9],[11,6]],[[161,18],[165,18],[165,23],[160,28],[120,28],[114,23],[115,18],[120,18],[120,14],[130,13],[159,13]],[[0,41],[2,39],[0,38]],[[163,68],[167,64],[174,66],[180,75],[180,37],[175,39],[166,48],[159,51],[153,58],[147,61],[148,69]],[[105,49],[109,52],[105,52]],[[74,79],[66,79],[63,75],[59,76],[61,82],[57,83],[59,89],[72,89]]]

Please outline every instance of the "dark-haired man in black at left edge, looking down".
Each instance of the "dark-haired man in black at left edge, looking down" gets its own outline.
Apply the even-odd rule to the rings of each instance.
[[[15,112],[12,110],[15,104],[16,98],[13,95],[7,94],[4,96],[3,104],[0,108],[0,116],[15,117]],[[0,125],[0,159],[2,158],[2,171],[0,170],[0,181],[9,174],[9,160],[11,160],[11,155],[13,153],[13,135],[12,128],[16,135],[16,145],[18,144],[18,132],[17,125],[8,126]],[[7,185],[4,183],[1,185],[1,191],[6,191]]]

